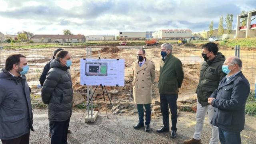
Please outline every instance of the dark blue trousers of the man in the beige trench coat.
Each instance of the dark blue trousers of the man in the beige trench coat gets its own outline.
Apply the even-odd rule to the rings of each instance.
[[[150,104],[137,104],[137,109],[138,109],[138,115],[139,115],[139,123],[144,124],[144,108],[146,110],[146,122],[145,124],[149,126],[150,120],[151,120],[151,109],[150,109]]]

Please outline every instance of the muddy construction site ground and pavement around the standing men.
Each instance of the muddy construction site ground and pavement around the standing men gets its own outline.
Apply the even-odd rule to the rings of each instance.
[[[199,74],[203,58],[202,44],[183,44],[173,45],[172,53],[179,58],[183,65],[184,80],[178,93],[178,138],[170,141],[169,134],[156,134],[155,130],[162,126],[162,114],[160,112],[160,94],[158,92],[159,63],[161,46],[61,46],[68,50],[72,57],[72,67],[70,74],[72,76],[74,89],[73,115],[70,120],[71,134],[68,135],[70,144],[82,143],[182,143],[183,140],[190,138],[194,132],[196,123],[196,87],[199,82]],[[124,86],[106,86],[113,105],[110,105],[109,99],[104,96],[102,90],[98,88],[93,96],[93,110],[99,112],[99,116],[94,123],[84,123],[84,118],[80,124],[80,118],[86,111],[87,87],[80,85],[80,59],[86,58],[87,47],[92,50],[92,58],[102,59],[124,59],[125,60],[125,85]],[[152,130],[146,134],[152,136],[151,139],[145,139],[144,130],[134,130],[132,126],[138,121],[136,106],[133,102],[132,93],[132,62],[137,60],[137,52],[140,48],[145,48],[146,58],[154,62],[156,66],[156,79],[152,85]],[[226,57],[235,56],[235,50],[232,47],[219,46],[219,52]],[[52,58],[54,48],[31,48],[31,49],[0,49],[0,66],[4,66],[4,61],[10,54],[24,54],[28,60],[30,71],[26,75],[28,84],[32,90],[31,100],[34,111],[35,132],[31,132],[32,143],[47,144],[48,138],[48,116],[47,108],[42,103],[40,96],[39,77],[44,65]],[[255,89],[256,75],[256,51],[247,48],[241,48],[240,58],[243,61],[243,73],[250,82],[252,91]],[[92,86],[94,89],[95,86]],[[120,126],[117,124],[116,114]],[[106,116],[108,114],[108,118]],[[250,112],[246,116],[246,129],[242,132],[243,143],[256,143],[256,118],[251,116]],[[202,142],[207,143],[210,139],[210,125],[206,122],[202,137]],[[252,124],[253,123],[253,124]],[[75,132],[76,128],[78,130]],[[90,134],[88,133],[90,131]],[[124,133],[122,133],[124,132]],[[154,135],[154,136],[153,136]],[[43,137],[42,137],[43,136]]]

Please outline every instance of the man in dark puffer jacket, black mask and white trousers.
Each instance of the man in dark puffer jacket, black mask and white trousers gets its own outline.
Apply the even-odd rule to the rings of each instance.
[[[225,56],[218,52],[219,48],[214,42],[208,42],[202,46],[202,57],[204,62],[201,66],[199,84],[196,89],[197,110],[196,127],[194,136],[190,140],[185,140],[185,144],[201,144],[201,133],[204,126],[204,118],[208,113],[209,122],[212,120],[214,108],[208,104],[208,98],[218,88],[220,80],[226,75],[222,72],[222,64]],[[212,138],[209,144],[218,144],[218,127],[211,124]]]

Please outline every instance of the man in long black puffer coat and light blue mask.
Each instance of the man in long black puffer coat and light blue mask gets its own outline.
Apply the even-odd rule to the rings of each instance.
[[[73,89],[68,71],[72,64],[68,51],[61,50],[50,63],[50,70],[42,87],[42,100],[48,104],[48,118],[53,122],[52,144],[66,144],[72,115]]]

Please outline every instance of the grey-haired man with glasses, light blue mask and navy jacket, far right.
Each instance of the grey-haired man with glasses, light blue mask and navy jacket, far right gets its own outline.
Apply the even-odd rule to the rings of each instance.
[[[214,107],[211,124],[218,126],[221,144],[241,144],[240,132],[244,129],[245,104],[250,93],[250,84],[241,69],[240,58],[227,58],[222,70],[228,75],[208,98]]]

